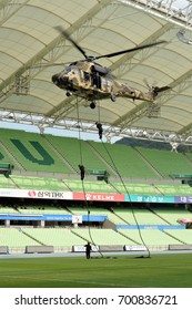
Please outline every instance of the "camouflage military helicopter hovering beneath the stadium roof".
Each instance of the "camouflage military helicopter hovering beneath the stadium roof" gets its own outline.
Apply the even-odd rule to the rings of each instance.
[[[90,107],[94,108],[98,100],[117,97],[128,97],[153,102],[160,92],[169,89],[169,86],[158,87],[149,86],[149,92],[132,89],[118,81],[105,66],[100,65],[95,60],[102,58],[113,58],[120,54],[130,53],[137,50],[151,48],[158,44],[165,43],[159,41],[145,45],[139,45],[133,49],[123,50],[105,55],[90,56],[84,50],[61,28],[55,28],[65,39],[68,39],[80,52],[84,59],[72,62],[63,71],[52,75],[52,82],[60,89],[65,90],[67,96],[77,95],[90,102]]]

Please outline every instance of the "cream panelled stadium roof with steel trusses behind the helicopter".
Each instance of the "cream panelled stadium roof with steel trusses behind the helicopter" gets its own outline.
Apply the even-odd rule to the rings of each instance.
[[[95,131],[107,136],[160,138],[192,144],[192,3],[174,0],[3,0],[0,3],[0,121]],[[82,59],[55,30],[62,25],[88,52],[100,55],[166,40],[142,51],[102,59],[100,63],[141,91],[169,85],[155,104],[118,99],[91,110],[67,97],[51,82],[63,65]],[[77,105],[78,102],[78,105]],[[77,106],[79,106],[77,108]]]

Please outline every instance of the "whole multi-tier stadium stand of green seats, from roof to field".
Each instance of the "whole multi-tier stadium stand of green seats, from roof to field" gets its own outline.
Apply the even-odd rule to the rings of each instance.
[[[191,154],[12,130],[0,130],[0,163],[14,165],[9,177],[0,174],[0,190],[3,193],[3,189],[8,189],[4,193],[10,197],[9,189],[69,192],[71,197],[73,193],[83,192],[143,197],[192,197],[190,184],[182,184],[182,179],[172,177],[173,174],[191,173]],[[81,161],[87,168],[83,183],[78,168]],[[100,169],[109,172],[109,182],[98,180],[97,176],[88,173]],[[53,246],[58,251],[70,251],[73,246],[83,246],[88,240],[93,240],[99,246],[142,245],[140,234],[148,246],[155,248],[192,244],[190,229],[180,229],[181,225],[178,223],[179,218],[192,218],[190,208],[186,210],[184,204],[180,207],[173,203],[158,205],[141,202],[132,205],[125,202],[100,202],[94,205],[94,202],[85,204],[83,200],[59,203],[57,199],[14,200],[14,197],[12,203],[10,197],[9,202],[2,197],[0,205],[0,244],[11,249],[24,251],[27,246],[42,245]],[[55,223],[46,223],[41,228],[32,228],[37,225],[29,219],[10,219],[7,224],[4,219],[4,216],[17,214],[21,218],[28,215],[88,215],[88,210],[91,216],[107,216],[108,226],[105,223],[98,225],[84,221],[75,228],[71,221],[59,223],[57,219]],[[140,232],[135,229],[138,225],[141,227]]]

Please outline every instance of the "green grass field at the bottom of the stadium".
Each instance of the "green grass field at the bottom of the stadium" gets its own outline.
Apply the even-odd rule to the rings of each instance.
[[[191,288],[192,254],[0,259],[1,288]]]

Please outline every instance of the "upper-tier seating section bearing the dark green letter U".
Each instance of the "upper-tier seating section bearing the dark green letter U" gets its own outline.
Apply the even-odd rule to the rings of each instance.
[[[67,174],[72,172],[42,135],[22,131],[17,131],[16,135],[13,130],[1,130],[1,143],[13,156],[14,167],[19,165],[20,168],[32,172]]]

